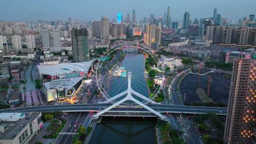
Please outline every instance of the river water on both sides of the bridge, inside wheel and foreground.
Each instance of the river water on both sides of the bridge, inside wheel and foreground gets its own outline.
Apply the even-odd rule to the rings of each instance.
[[[125,54],[121,63],[127,72],[132,72],[132,89],[148,97],[144,65],[144,54]],[[115,77],[110,86],[110,97],[127,90],[127,87],[127,77]],[[152,117],[103,117],[89,144],[156,144],[155,123],[156,118]]]

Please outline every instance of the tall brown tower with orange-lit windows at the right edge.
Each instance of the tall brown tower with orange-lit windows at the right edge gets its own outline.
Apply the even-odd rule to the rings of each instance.
[[[256,59],[235,59],[234,61],[224,144],[255,144],[255,65]]]

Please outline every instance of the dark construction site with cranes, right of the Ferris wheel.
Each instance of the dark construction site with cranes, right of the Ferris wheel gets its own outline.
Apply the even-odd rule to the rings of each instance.
[[[227,103],[230,86],[229,73],[200,68],[186,75],[180,83],[180,92],[186,103]]]

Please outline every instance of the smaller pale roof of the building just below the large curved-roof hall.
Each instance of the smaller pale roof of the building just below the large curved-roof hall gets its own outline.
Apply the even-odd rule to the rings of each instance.
[[[64,87],[64,89],[72,89],[75,84],[77,84],[83,77],[74,77],[68,79],[58,79],[50,82],[45,82],[46,90],[55,89],[56,87]]]

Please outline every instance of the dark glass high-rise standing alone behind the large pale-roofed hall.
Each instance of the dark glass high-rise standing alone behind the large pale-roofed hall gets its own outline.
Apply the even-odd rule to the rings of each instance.
[[[72,52],[74,62],[84,62],[85,57],[89,56],[87,29],[75,29],[71,31]]]

